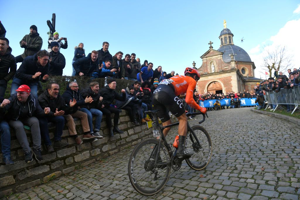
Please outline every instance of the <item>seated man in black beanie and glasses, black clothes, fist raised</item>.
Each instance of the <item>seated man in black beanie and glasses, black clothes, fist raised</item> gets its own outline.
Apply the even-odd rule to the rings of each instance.
[[[119,115],[120,110],[115,108],[114,106],[111,106],[113,103],[113,100],[119,100],[119,101],[125,101],[126,100],[126,94],[125,90],[122,89],[122,96],[119,95],[115,89],[116,89],[116,80],[115,79],[107,79],[107,86],[102,88],[99,93],[100,96],[103,97],[103,106],[101,108],[101,111],[104,115],[106,115],[106,124],[110,131],[110,136],[113,136],[113,132],[116,133],[124,133],[122,130],[119,129],[118,123],[119,123]],[[111,121],[111,113],[115,113],[114,116],[114,127]]]

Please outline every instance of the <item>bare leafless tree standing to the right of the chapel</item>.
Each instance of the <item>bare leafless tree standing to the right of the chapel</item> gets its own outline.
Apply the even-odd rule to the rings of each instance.
[[[265,46],[263,57],[263,68],[268,70],[269,77],[273,77],[272,70],[280,70],[286,72],[292,62],[292,56],[289,55],[286,46],[276,46],[270,49],[270,46]]]

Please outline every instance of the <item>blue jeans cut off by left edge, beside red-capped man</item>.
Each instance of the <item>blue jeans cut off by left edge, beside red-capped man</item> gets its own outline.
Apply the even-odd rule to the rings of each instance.
[[[6,121],[0,122],[0,134],[3,158],[10,158],[10,131]]]

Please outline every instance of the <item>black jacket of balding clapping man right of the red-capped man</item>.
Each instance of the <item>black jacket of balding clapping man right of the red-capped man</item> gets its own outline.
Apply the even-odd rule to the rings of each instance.
[[[63,110],[64,115],[70,114],[73,110],[73,108],[68,106],[69,103],[66,105],[64,99],[60,96],[60,94],[58,94],[56,98],[51,99],[48,90],[44,91],[38,97],[38,101],[42,109],[50,108],[50,113],[48,115],[51,117],[54,117],[54,113],[56,112],[56,109],[58,111]]]

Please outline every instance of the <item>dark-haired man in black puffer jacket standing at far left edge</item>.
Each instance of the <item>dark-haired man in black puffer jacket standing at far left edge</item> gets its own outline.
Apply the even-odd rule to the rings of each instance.
[[[7,82],[17,70],[16,59],[11,51],[8,39],[0,37],[0,97],[4,97]]]

